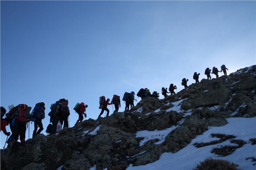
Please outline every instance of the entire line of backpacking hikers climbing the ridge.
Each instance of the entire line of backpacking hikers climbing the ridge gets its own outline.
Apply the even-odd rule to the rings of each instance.
[[[218,78],[218,72],[224,73],[225,76],[227,76],[227,71],[229,70],[226,68],[226,66],[223,64],[221,67],[221,70],[218,71],[217,67],[213,67],[213,71],[211,72],[211,69],[207,68],[205,69],[205,75],[207,76],[207,79],[211,80],[210,74],[215,74],[216,78]],[[199,75],[197,72],[194,73],[193,79],[195,80],[195,83],[199,83]],[[187,86],[188,79],[182,79],[181,85],[184,86],[185,89],[188,88]],[[175,94],[175,89],[177,89],[174,84],[170,84],[169,86],[169,92],[167,91],[167,88],[162,87],[162,95],[164,97],[168,96],[167,93]],[[154,91],[152,94],[150,93],[150,90],[148,88],[140,89],[137,93],[138,97],[141,97],[141,99],[144,99],[145,97],[159,97],[159,93],[157,91]],[[125,110],[128,111],[129,107],[134,107],[134,100],[135,99],[135,93],[132,91],[131,93],[124,93],[123,99],[125,102]],[[113,113],[118,112],[119,107],[121,107],[120,102],[120,96],[114,94],[113,98],[111,100],[111,103],[109,103],[110,99],[105,98],[105,96],[100,97],[100,107],[101,109],[100,115],[98,116],[98,119],[101,117],[101,115],[104,113],[104,111],[107,112],[107,116],[109,115],[109,110],[107,109],[108,105],[114,104],[115,110]],[[137,101],[137,100],[136,100]],[[74,110],[76,113],[78,113],[79,117],[77,122],[75,123],[75,126],[78,124],[78,122],[82,122],[83,115],[84,117],[87,117],[85,111],[88,106],[84,105],[83,102],[77,103],[74,107]],[[8,139],[8,143],[17,143],[17,140],[20,137],[20,141],[22,145],[25,145],[25,134],[26,134],[26,126],[29,121],[34,122],[34,131],[33,131],[33,137],[37,134],[40,134],[43,130],[43,124],[42,119],[45,118],[45,103],[40,102],[37,103],[34,109],[32,110],[30,114],[31,107],[28,107],[26,104],[19,104],[16,107],[13,107],[13,105],[9,106],[10,111],[6,114],[6,109],[4,107],[1,107],[1,131],[3,131],[4,134],[7,136],[10,136]],[[68,100],[66,99],[60,99],[56,101],[54,104],[51,104],[50,107],[51,111],[48,113],[50,116],[50,124],[47,126],[46,133],[49,134],[55,134],[57,131],[62,129],[62,125],[64,124],[64,127],[68,127],[69,121],[68,117],[70,115],[69,113],[69,107],[68,107]],[[6,117],[3,119],[3,116],[6,114]],[[52,123],[52,124],[51,124]],[[10,124],[10,130],[12,131],[12,135],[10,135],[10,132],[6,131],[6,126]],[[29,125],[29,124],[28,124]],[[39,130],[37,130],[39,127]]]

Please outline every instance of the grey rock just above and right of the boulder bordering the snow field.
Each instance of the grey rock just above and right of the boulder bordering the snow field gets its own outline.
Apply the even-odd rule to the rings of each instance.
[[[197,119],[195,116],[191,116],[189,119],[186,119],[182,126],[187,126],[188,129],[196,135],[202,134],[204,131],[208,130],[205,123],[200,119]]]

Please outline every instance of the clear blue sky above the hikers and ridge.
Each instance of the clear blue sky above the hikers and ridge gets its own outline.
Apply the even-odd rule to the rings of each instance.
[[[1,106],[44,102],[45,133],[65,98],[74,126],[77,102],[97,119],[99,96],[147,87],[162,99],[195,71],[256,64],[255,40],[256,1],[1,1]]]

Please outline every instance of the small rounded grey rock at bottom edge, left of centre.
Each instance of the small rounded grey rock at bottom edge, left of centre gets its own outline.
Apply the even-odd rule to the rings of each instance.
[[[72,153],[71,159],[65,162],[62,170],[88,170],[91,167],[89,160],[83,154],[78,154],[75,151]]]

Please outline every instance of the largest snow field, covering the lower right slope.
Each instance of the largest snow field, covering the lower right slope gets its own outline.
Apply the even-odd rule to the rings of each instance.
[[[228,124],[220,127],[210,127],[209,130],[203,134],[198,135],[183,149],[176,153],[163,153],[159,160],[142,166],[130,166],[127,170],[191,170],[194,169],[197,164],[204,161],[207,158],[221,159],[233,162],[239,165],[239,169],[244,170],[255,170],[255,166],[251,160],[246,160],[249,157],[256,157],[256,145],[250,143],[245,144],[243,147],[236,149],[232,154],[220,157],[211,151],[216,147],[224,146],[229,144],[229,141],[225,141],[221,144],[214,144],[205,147],[196,148],[193,146],[194,143],[207,142],[216,140],[211,137],[212,133],[221,133],[227,135],[237,136],[235,139],[241,139],[249,141],[249,139],[256,138],[256,117],[253,118],[229,118],[227,119]],[[217,138],[218,139],[218,138]]]

